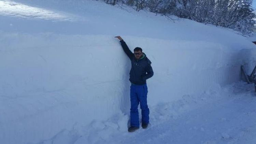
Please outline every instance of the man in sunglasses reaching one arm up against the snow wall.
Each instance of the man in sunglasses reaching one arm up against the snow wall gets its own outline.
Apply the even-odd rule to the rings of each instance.
[[[153,76],[154,72],[151,67],[151,61],[142,52],[140,47],[134,48],[134,53],[130,51],[125,41],[120,37],[116,36],[120,40],[120,43],[131,60],[130,70],[130,120],[131,127],[128,129],[129,132],[139,129],[139,112],[138,105],[140,103],[141,115],[142,115],[142,128],[147,128],[149,122],[149,109],[147,107],[147,84],[146,80]]]

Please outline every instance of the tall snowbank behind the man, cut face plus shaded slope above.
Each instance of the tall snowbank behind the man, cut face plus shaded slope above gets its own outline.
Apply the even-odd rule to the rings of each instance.
[[[0,12],[3,143],[48,143],[55,138],[55,143],[74,143],[80,136],[76,131],[88,125],[99,131],[104,126],[127,131],[130,61],[116,35],[131,50],[142,47],[152,61],[154,76],[147,81],[150,108],[238,82],[240,66],[251,72],[255,65],[255,45],[228,29],[97,1],[16,1],[14,6],[70,13],[86,21],[63,21],[51,14],[41,19],[10,16],[11,9]],[[104,132],[108,130],[100,135],[108,139]],[[74,137],[58,139],[69,134]]]

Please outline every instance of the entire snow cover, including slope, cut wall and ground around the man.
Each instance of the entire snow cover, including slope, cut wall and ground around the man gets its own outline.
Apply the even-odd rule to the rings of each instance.
[[[122,7],[122,8],[121,8]],[[130,61],[152,61],[150,127],[128,133]],[[255,143],[255,45],[91,0],[0,0],[0,143]]]

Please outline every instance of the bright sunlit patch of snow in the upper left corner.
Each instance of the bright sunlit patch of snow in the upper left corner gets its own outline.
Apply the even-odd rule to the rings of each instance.
[[[74,18],[69,14],[37,8],[14,1],[0,1],[0,15],[28,19],[74,21]]]

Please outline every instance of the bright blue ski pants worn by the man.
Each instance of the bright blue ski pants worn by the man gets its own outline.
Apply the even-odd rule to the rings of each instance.
[[[130,100],[131,100],[131,109],[130,109],[130,120],[131,126],[139,127],[139,112],[138,105],[140,103],[142,123],[148,124],[149,122],[149,109],[147,107],[147,84],[144,85],[135,85],[131,84],[130,87]]]

